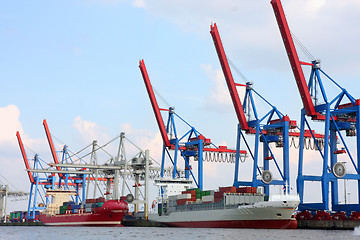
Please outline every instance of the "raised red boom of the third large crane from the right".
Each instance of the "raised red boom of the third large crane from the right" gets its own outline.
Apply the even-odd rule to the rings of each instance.
[[[151,86],[150,78],[149,78],[149,75],[148,75],[146,67],[145,67],[144,59],[142,59],[139,62],[139,68],[140,68],[142,77],[144,79],[146,90],[147,90],[147,92],[149,94],[151,106],[152,106],[154,114],[155,114],[156,122],[157,122],[157,124],[159,126],[161,137],[163,139],[163,142],[164,142],[165,146],[168,148],[168,147],[170,147],[171,144],[170,144],[167,132],[166,132],[165,124],[164,124],[164,122],[162,120],[162,117],[161,117],[159,105],[158,105],[158,103],[156,101],[156,98],[155,98],[154,90],[153,90],[153,88]]]

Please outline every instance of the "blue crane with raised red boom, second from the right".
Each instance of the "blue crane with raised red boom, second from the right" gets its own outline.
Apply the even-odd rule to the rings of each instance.
[[[289,184],[290,180],[290,171],[289,171],[289,134],[292,137],[296,137],[296,132],[289,132],[289,129],[296,128],[296,121],[290,120],[286,115],[283,115],[278,109],[271,105],[265,98],[263,98],[259,93],[257,93],[253,87],[252,83],[247,82],[246,85],[238,84],[234,82],[230,66],[225,54],[224,47],[221,42],[221,38],[216,26],[211,25],[210,33],[214,41],[214,45],[219,57],[220,65],[222,67],[225,80],[230,92],[230,96],[235,108],[235,112],[239,121],[238,124],[238,133],[237,133],[237,149],[240,147],[241,139],[244,140],[245,145],[250,152],[251,157],[253,158],[253,172],[252,172],[252,181],[239,181],[239,158],[236,158],[235,164],[235,175],[234,175],[234,186],[253,186],[264,187],[266,195],[269,195],[270,185],[283,185],[286,186]],[[244,105],[241,104],[239,93],[236,87],[245,87],[245,98]],[[258,115],[254,96],[257,95],[265,103],[267,103],[271,110],[267,112],[264,116],[260,117]],[[248,106],[248,105],[251,105]],[[254,115],[254,120],[247,120],[245,117],[245,112],[252,113]],[[244,134],[255,135],[254,150],[250,149],[247,139],[244,137]],[[263,143],[263,167],[259,167],[259,143]],[[270,143],[275,142],[277,147],[283,148],[282,153],[282,162],[283,166],[280,167],[278,163],[278,158],[275,157],[275,153],[270,149]],[[280,158],[280,157],[279,157]],[[272,173],[270,172],[270,162],[273,162],[275,169],[277,169],[281,179],[273,180]],[[257,178],[257,174],[261,175],[261,179]],[[288,189],[289,190],[289,189]]]

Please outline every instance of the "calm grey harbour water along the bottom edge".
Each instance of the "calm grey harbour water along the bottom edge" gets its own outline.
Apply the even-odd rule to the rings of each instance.
[[[334,230],[255,230],[255,229],[193,229],[193,228],[99,228],[99,227],[0,227],[0,239],[359,239],[359,231]]]

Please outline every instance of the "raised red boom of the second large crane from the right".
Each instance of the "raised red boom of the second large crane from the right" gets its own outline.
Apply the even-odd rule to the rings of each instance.
[[[241,104],[238,91],[236,89],[236,84],[234,82],[234,78],[231,74],[230,66],[229,66],[228,60],[226,58],[225,50],[222,45],[216,23],[214,23],[214,25],[210,26],[210,33],[211,33],[211,36],[212,36],[214,44],[215,44],[216,52],[217,52],[219,60],[220,60],[221,68],[224,72],[225,80],[226,80],[227,86],[229,88],[231,100],[234,104],[235,112],[236,112],[237,118],[239,120],[241,129],[248,130],[249,126],[246,121],[246,116],[245,116],[245,113],[243,110],[243,106]]]

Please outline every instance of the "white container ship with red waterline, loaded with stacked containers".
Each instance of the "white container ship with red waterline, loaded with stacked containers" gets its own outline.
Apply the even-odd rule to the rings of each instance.
[[[158,183],[165,194],[181,188],[168,180]],[[149,220],[170,227],[297,228],[293,214],[300,203],[298,195],[265,196],[254,187],[220,187],[217,192],[195,188],[163,196],[157,213],[149,214]]]

